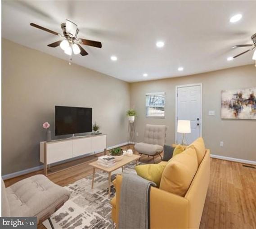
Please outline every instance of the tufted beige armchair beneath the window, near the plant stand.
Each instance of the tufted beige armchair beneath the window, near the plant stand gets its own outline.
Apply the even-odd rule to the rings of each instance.
[[[165,125],[150,125],[147,124],[144,131],[144,142],[136,143],[135,150],[144,155],[152,156],[155,163],[154,156],[160,155],[163,152],[166,139]]]

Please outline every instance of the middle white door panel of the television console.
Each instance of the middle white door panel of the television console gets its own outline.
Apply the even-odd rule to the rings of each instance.
[[[77,157],[86,153],[92,153],[92,138],[74,139],[73,140],[73,157]]]

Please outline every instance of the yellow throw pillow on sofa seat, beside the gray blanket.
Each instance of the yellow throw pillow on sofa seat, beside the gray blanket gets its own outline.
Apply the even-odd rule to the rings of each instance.
[[[159,188],[162,172],[164,171],[165,166],[166,165],[160,164],[141,165],[135,166],[135,170],[139,176],[155,182]]]

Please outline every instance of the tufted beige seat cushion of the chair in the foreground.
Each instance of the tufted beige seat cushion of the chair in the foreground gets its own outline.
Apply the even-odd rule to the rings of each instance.
[[[67,189],[54,184],[44,175],[35,175],[6,188],[11,216],[36,216],[40,220],[52,214],[68,200]]]

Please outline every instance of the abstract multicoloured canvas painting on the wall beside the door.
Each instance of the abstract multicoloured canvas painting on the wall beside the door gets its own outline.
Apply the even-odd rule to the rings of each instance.
[[[256,120],[256,87],[222,90],[221,118]]]

